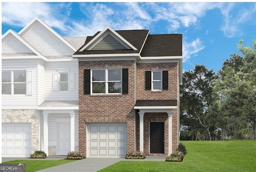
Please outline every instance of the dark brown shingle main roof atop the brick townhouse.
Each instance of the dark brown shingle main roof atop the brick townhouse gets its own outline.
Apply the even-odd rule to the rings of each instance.
[[[142,57],[182,56],[182,34],[150,35],[149,30],[116,30],[116,32],[138,50],[83,50],[79,52],[80,49],[100,33],[97,32],[94,36],[88,36],[84,45],[74,55],[140,53]]]

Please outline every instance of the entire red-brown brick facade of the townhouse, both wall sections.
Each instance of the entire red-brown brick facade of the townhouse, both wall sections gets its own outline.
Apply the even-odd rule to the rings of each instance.
[[[100,95],[84,94],[84,70],[96,68],[128,68],[128,94]],[[146,70],[168,70],[168,90],[151,91],[145,90]],[[136,100],[174,99],[178,95],[178,66],[177,63],[142,63],[135,60],[116,61],[80,61],[79,62],[79,151],[86,154],[86,123],[88,122],[125,122],[127,124],[127,151],[139,150],[139,116],[135,112]],[[136,115],[135,115],[136,114]],[[177,110],[173,110],[172,116],[172,150],[178,146],[178,116]],[[144,152],[148,156],[163,156],[163,154],[150,154],[149,151],[149,124],[154,121],[164,122],[165,150],[164,156],[168,155],[168,114],[146,113],[144,114]],[[135,124],[136,123],[136,124]]]

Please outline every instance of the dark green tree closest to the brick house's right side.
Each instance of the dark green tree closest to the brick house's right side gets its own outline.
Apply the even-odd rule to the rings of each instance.
[[[214,102],[217,96],[213,92],[215,79],[213,70],[208,70],[204,65],[196,65],[193,71],[184,72],[180,90],[181,124],[186,124],[193,130],[197,127],[197,132],[203,128],[206,140],[212,140],[216,128],[217,113]],[[193,121],[194,124],[188,124],[188,121]]]

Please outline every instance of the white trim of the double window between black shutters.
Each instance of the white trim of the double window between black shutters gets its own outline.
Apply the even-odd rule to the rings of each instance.
[[[92,93],[92,83],[95,81],[92,81],[92,71],[93,70],[105,70],[105,81],[97,81],[97,82],[105,82],[105,93]],[[120,70],[121,72],[121,80],[119,81],[108,81],[108,70]],[[122,69],[120,68],[101,68],[101,69],[91,69],[91,79],[90,79],[90,92],[91,94],[101,94],[101,95],[106,95],[106,94],[122,94]],[[120,93],[108,93],[108,82],[121,82],[121,92]]]

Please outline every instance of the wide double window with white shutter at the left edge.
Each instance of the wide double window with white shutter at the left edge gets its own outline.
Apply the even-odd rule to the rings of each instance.
[[[27,78],[27,74],[29,78]],[[2,94],[32,94],[32,72],[26,70],[2,71]]]

